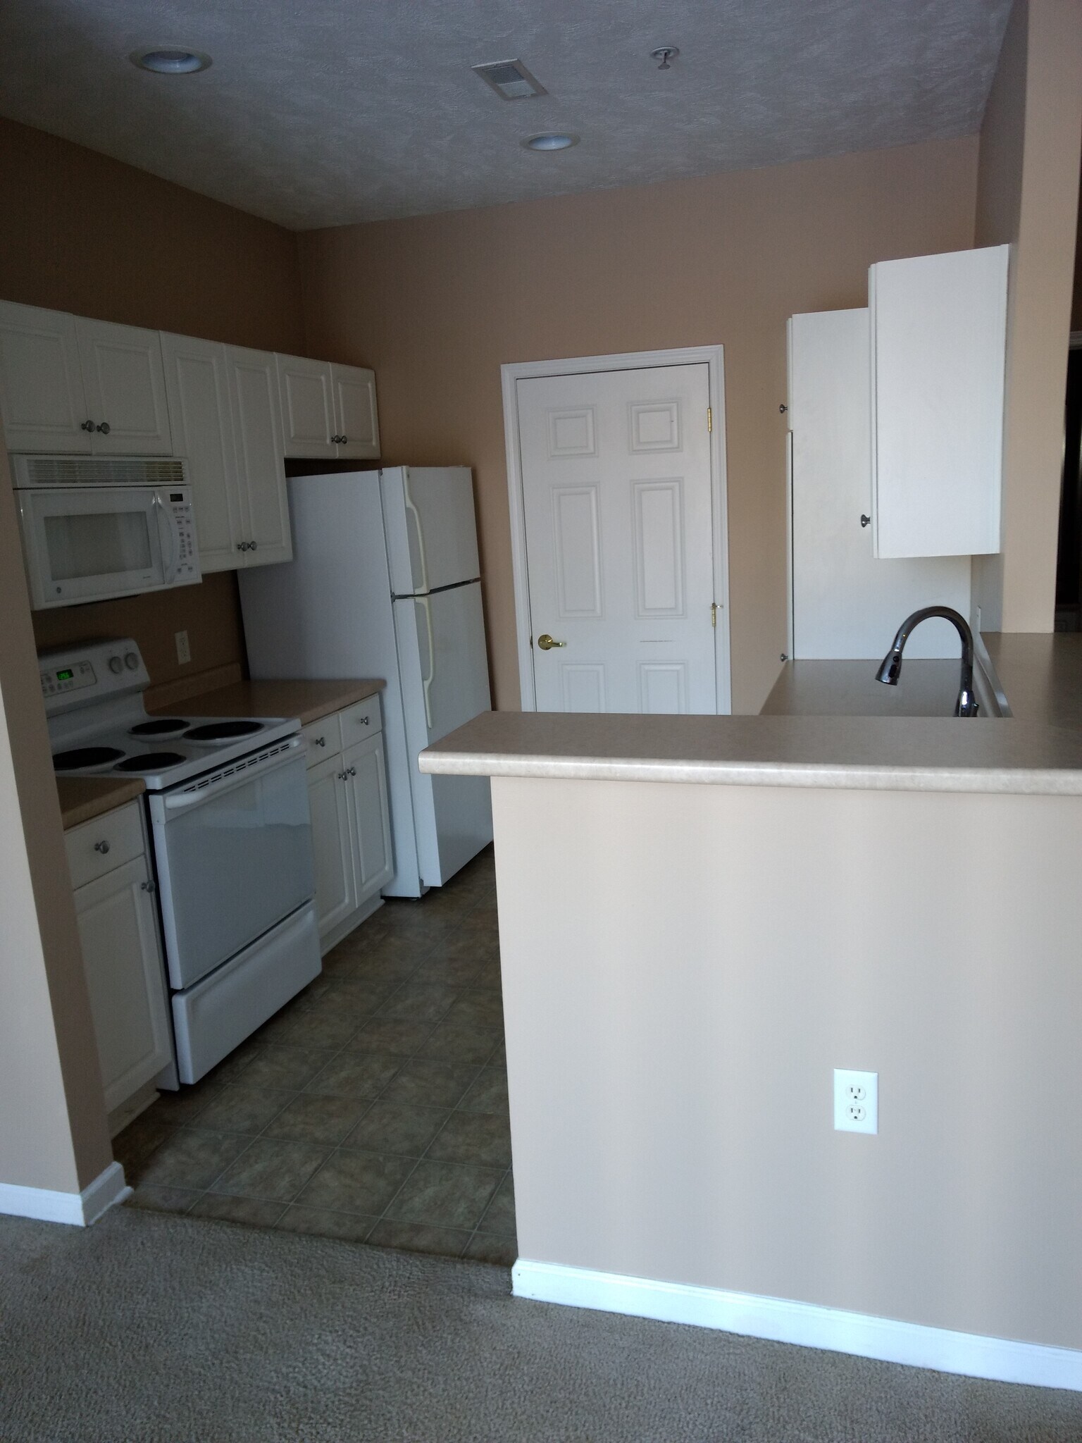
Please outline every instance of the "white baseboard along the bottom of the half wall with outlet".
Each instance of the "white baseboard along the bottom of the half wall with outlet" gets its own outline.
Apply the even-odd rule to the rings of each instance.
[[[1082,1352],[1043,1343],[955,1333],[945,1328],[902,1323],[867,1313],[844,1313],[837,1307],[795,1303],[753,1293],[659,1283],[620,1273],[591,1273],[557,1263],[519,1258],[512,1273],[515,1297],[570,1307],[594,1307],[632,1317],[655,1317],[665,1323],[720,1328],[750,1338],[769,1338],[804,1348],[877,1358],[881,1362],[936,1368],[997,1382],[1029,1382],[1044,1388],[1082,1391]]]

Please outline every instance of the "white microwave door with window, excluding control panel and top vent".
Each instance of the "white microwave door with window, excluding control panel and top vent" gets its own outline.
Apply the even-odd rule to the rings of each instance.
[[[35,610],[172,586],[177,518],[154,486],[19,491]]]

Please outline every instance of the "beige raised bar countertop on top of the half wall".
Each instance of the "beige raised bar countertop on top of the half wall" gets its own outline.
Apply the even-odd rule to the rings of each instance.
[[[1082,795],[1082,635],[985,636],[985,644],[1014,711],[1010,719],[489,711],[423,752],[420,769],[730,786]],[[956,667],[954,671],[956,677]],[[902,687],[907,674],[903,670]],[[873,685],[879,685],[874,677]]]

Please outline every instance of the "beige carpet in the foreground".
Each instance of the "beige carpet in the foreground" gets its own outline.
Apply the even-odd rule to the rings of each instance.
[[[4,1443],[1079,1443],[1082,1395],[515,1302],[509,1273],[0,1218]]]

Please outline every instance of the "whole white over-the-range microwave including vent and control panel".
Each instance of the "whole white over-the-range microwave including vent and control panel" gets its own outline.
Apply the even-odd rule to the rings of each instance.
[[[30,606],[201,580],[186,465],[156,456],[12,456]]]

